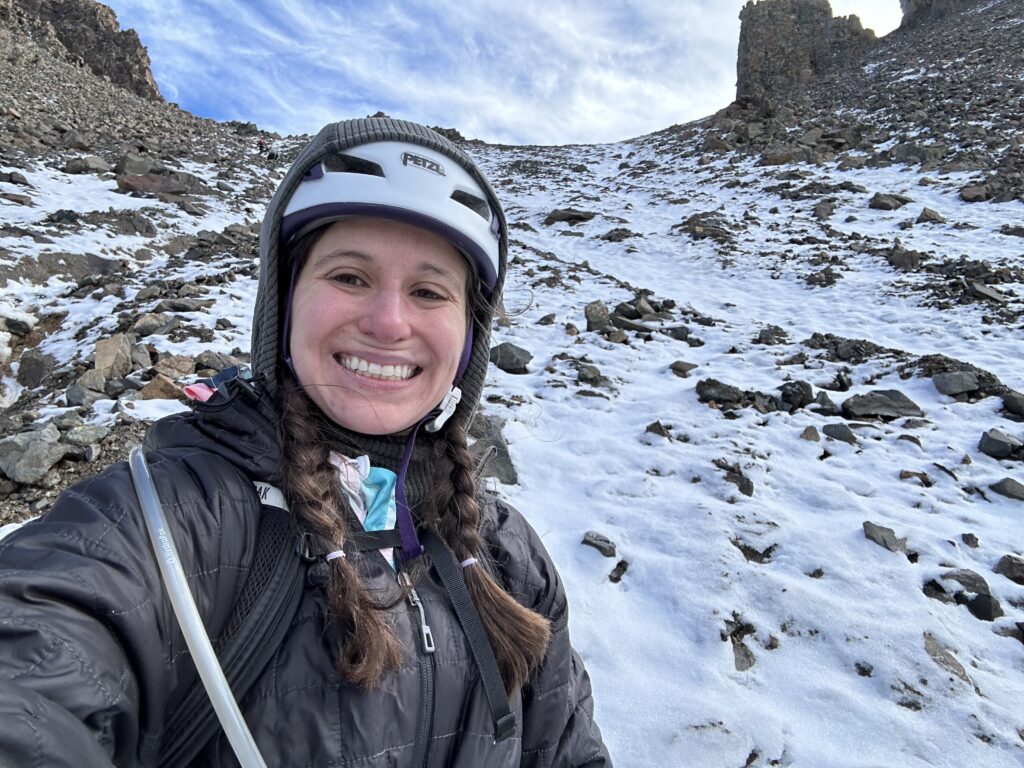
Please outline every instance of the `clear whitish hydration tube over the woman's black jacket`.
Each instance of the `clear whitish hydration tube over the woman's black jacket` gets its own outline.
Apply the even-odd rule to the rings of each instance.
[[[252,733],[249,732],[249,726],[246,725],[246,721],[239,711],[239,705],[234,700],[227,679],[224,677],[224,671],[220,668],[213,645],[210,644],[210,638],[203,626],[203,618],[196,607],[196,601],[188,589],[188,582],[185,581],[185,573],[178,558],[178,550],[174,546],[174,539],[171,537],[171,530],[167,524],[167,516],[164,514],[160,497],[157,495],[157,486],[153,482],[153,476],[150,474],[145,455],[140,445],[131,450],[128,464],[131,468],[132,482],[135,484],[135,494],[142,506],[142,517],[150,531],[150,540],[157,553],[157,563],[160,565],[167,594],[171,598],[171,606],[174,608],[174,614],[181,626],[185,643],[188,645],[188,650],[191,651],[196,669],[210,695],[221,727],[224,729],[227,740],[230,741],[231,749],[234,750],[234,755],[243,768],[266,768],[266,763],[263,762],[263,757],[259,754],[256,741],[253,739]]]

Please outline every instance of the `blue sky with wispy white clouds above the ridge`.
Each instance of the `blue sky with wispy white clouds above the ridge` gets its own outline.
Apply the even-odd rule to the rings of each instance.
[[[378,111],[467,138],[598,143],[735,93],[743,0],[109,0],[164,97],[201,117],[315,132]],[[898,0],[834,0],[880,36]]]

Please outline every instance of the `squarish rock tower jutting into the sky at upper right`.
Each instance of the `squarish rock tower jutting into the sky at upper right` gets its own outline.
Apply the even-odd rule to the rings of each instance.
[[[827,0],[761,0],[739,12],[736,100],[761,103],[861,58],[876,42]]]

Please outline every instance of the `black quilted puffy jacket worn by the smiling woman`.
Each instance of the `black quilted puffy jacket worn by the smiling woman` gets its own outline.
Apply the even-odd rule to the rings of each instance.
[[[185,573],[217,636],[251,566],[260,513],[253,482],[278,482],[275,430],[234,397],[158,422],[147,445]],[[390,612],[406,662],[371,691],[335,672],[325,594],[313,584],[241,701],[268,766],[611,764],[551,558],[501,502],[485,506],[482,532],[501,583],[553,628],[544,664],[513,701],[515,736],[495,743],[477,669],[433,575],[417,590],[436,651],[423,652],[416,610],[397,604]],[[372,589],[394,589],[377,552],[356,562]],[[155,765],[168,699],[194,670],[125,464],[0,540],[0,766]],[[194,765],[238,763],[221,734]]]

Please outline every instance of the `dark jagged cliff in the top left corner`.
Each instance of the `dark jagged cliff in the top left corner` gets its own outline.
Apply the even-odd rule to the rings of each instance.
[[[0,19],[115,85],[143,98],[163,100],[138,35],[122,30],[105,5],[93,0],[0,0]]]

